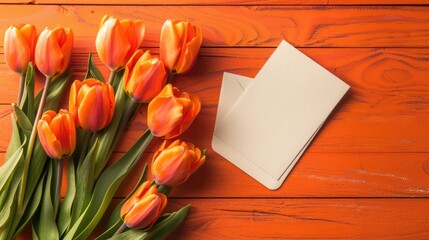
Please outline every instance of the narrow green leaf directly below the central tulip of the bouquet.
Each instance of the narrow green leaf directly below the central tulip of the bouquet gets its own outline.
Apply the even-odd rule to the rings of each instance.
[[[74,224],[82,212],[85,210],[86,205],[91,199],[90,193],[94,186],[94,162],[96,152],[98,150],[98,141],[91,147],[91,150],[85,156],[82,164],[78,166],[76,173],[76,196],[73,200],[73,211],[71,224]]]

